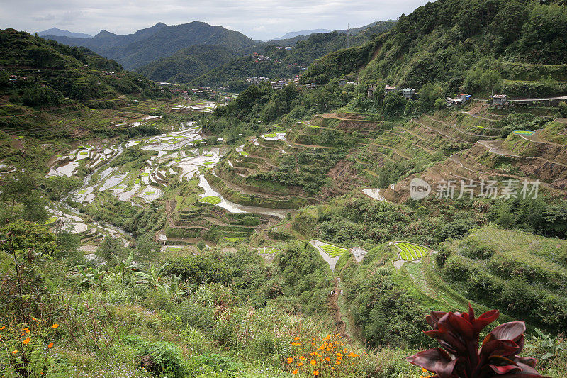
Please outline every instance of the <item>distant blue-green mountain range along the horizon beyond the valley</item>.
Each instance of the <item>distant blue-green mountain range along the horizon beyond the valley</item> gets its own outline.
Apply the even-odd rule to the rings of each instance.
[[[347,30],[301,30],[267,42],[254,41],[237,31],[198,21],[175,26],[156,23],[127,35],[101,30],[92,38],[76,38],[73,33],[56,28],[42,34],[52,32],[54,34],[44,35],[44,38],[89,48],[116,60],[125,69],[137,70],[160,82],[193,82],[211,70],[217,70],[213,76],[198,80],[199,84],[208,85],[225,84],[235,79],[242,83],[246,77],[254,76],[287,77],[297,70],[290,71],[281,63],[309,65],[329,52],[347,45],[360,45],[394,24],[395,21],[378,21],[351,29],[348,36]],[[293,50],[276,49],[279,45],[291,46]],[[267,55],[275,62],[241,59],[242,55],[252,52]]]

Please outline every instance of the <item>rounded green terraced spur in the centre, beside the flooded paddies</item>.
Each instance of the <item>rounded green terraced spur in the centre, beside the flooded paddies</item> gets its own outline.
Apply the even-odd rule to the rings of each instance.
[[[274,130],[230,151],[208,172],[209,182],[230,201],[298,209],[368,184],[352,156],[383,132],[381,122],[347,113]]]

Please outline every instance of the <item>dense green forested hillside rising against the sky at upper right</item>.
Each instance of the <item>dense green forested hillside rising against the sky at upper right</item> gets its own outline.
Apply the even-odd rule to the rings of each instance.
[[[304,80],[322,84],[361,70],[364,82],[416,88],[440,82],[466,91],[486,91],[492,84],[507,88],[514,84],[503,69],[510,62],[524,71],[532,70],[527,65],[566,63],[561,32],[566,24],[561,1],[436,1],[400,16],[390,32],[369,43],[364,69],[359,53],[336,52],[315,62]],[[550,72],[549,80],[561,79]]]

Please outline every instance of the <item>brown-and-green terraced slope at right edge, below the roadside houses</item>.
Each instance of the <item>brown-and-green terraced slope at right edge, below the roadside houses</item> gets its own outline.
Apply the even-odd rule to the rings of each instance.
[[[420,133],[430,135],[422,138],[422,143],[431,142],[437,134],[437,138],[443,140],[444,144],[439,146],[440,150],[435,151],[438,153],[437,160],[432,155],[425,154],[425,159],[429,157],[426,160],[430,163],[429,167],[422,165],[425,170],[410,171],[408,177],[383,191],[383,196],[388,201],[407,199],[410,193],[409,182],[414,177],[430,183],[440,180],[473,180],[475,184],[494,179],[499,182],[507,179],[539,179],[544,191],[566,194],[566,149],[564,144],[554,141],[562,140],[561,123],[544,122],[544,128],[535,130],[533,134],[510,133],[507,130],[507,120],[510,117],[512,116],[490,113],[478,116],[454,112],[412,119],[410,127],[415,137],[421,136]],[[506,138],[502,138],[503,134],[507,135]],[[407,159],[420,156],[412,153],[410,148],[403,151]],[[420,157],[420,160],[423,161],[423,158]]]

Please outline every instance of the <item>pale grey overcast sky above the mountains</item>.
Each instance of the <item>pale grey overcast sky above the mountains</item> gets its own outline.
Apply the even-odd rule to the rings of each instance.
[[[254,40],[290,31],[346,29],[411,13],[424,0],[0,0],[0,28],[30,33],[57,27],[95,35],[203,21]]]

